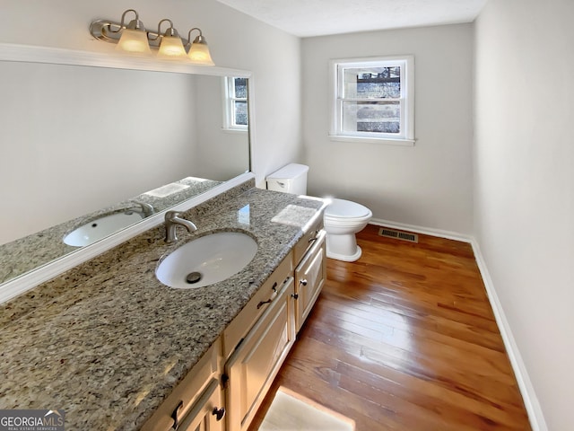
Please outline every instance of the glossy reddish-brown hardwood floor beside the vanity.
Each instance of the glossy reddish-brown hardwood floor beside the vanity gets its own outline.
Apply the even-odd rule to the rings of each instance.
[[[327,259],[327,282],[250,431],[279,386],[357,431],[529,430],[469,244],[357,235],[363,255]],[[318,431],[318,430],[314,430]]]

